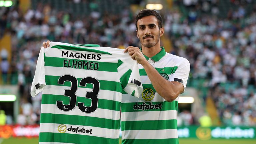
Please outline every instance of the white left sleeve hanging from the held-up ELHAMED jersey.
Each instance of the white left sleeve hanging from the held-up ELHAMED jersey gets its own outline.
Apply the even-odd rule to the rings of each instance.
[[[38,93],[42,92],[45,86],[45,71],[44,71],[44,48],[41,47],[37,64],[35,76],[32,82],[30,94],[35,97]]]

